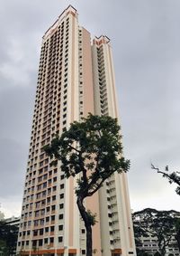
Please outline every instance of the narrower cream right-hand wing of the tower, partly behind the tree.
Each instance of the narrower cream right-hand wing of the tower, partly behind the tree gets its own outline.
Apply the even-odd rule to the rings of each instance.
[[[94,39],[92,56],[95,114],[107,114],[113,118],[119,118],[112,50],[107,37],[101,36]],[[109,256],[112,253],[111,251],[116,251],[117,253],[121,251],[123,256],[136,255],[127,176],[125,174],[114,174],[108,182],[110,182],[110,185],[104,185],[99,193],[100,209],[103,210],[101,214],[103,255]],[[110,191],[110,194],[107,194],[107,191]],[[107,197],[110,198],[110,202],[107,202]],[[107,207],[108,203],[110,203],[109,209]],[[107,234],[106,237],[104,233]]]

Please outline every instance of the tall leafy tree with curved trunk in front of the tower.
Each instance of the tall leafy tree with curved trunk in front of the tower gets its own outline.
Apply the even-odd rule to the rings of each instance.
[[[126,172],[130,161],[125,160],[121,147],[120,126],[117,119],[89,114],[80,122],[75,121],[60,137],[55,137],[45,152],[61,163],[65,176],[75,177],[76,204],[85,223],[86,256],[92,256],[92,226],[95,213],[85,208],[85,198],[92,196],[114,172]]]

